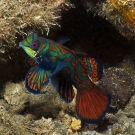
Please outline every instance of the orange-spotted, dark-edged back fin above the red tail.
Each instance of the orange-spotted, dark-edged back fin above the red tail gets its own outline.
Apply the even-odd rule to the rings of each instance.
[[[77,53],[77,57],[83,67],[86,68],[88,76],[93,82],[96,82],[102,78],[103,65],[99,58],[83,53]]]

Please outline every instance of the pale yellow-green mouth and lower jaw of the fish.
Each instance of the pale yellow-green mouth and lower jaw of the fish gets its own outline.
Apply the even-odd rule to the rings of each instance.
[[[30,47],[24,46],[21,42],[19,43],[19,47],[22,47],[31,58],[36,56],[36,51],[32,50]]]

